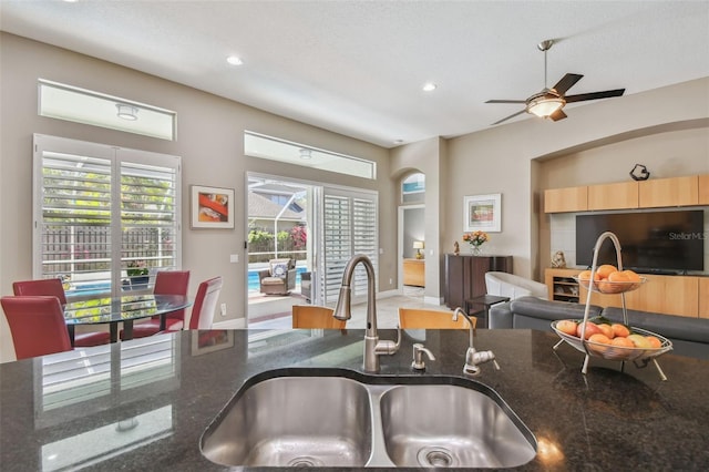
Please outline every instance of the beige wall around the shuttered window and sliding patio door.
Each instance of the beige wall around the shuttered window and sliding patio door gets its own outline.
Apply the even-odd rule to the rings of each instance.
[[[380,290],[395,288],[395,203],[388,150],[321,129],[273,115],[229,100],[178,85],[134,70],[16,35],[0,35],[0,294],[11,294],[13,280],[31,278],[32,268],[32,134],[112,144],[174,154],[183,163],[183,265],[192,270],[189,291],[201,280],[224,277],[220,302],[228,315],[244,318],[246,260],[244,240],[246,172],[379,191]],[[177,112],[177,140],[166,142],[119,131],[39,116],[38,79],[85,88]],[[377,181],[306,170],[244,156],[243,134],[250,130],[315,147],[377,162]],[[187,192],[191,184],[236,189],[235,229],[189,229]],[[240,263],[230,264],[229,255]],[[393,278],[391,285],[389,278]],[[4,322],[4,320],[3,320]]]

